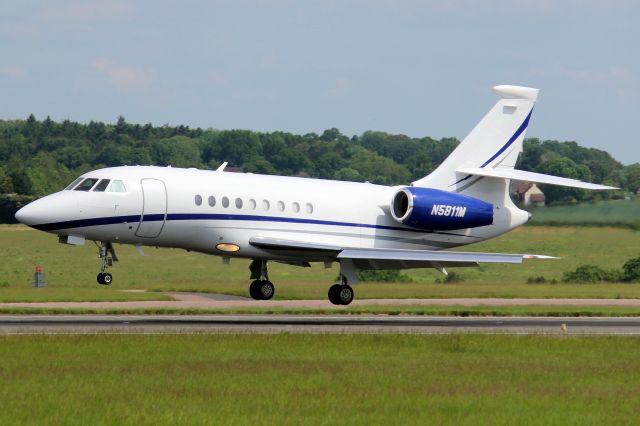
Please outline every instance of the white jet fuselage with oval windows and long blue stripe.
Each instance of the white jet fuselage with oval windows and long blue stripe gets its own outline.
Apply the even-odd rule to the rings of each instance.
[[[122,180],[126,192],[60,191],[23,208],[20,221],[61,236],[95,241],[314,261],[322,259],[309,258],[304,251],[266,252],[251,245],[250,239],[439,250],[495,237],[528,219],[509,200],[495,206],[493,225],[424,232],[391,216],[389,204],[397,187],[151,166],[106,168],[83,176]],[[240,250],[222,252],[216,248],[220,243]]]

